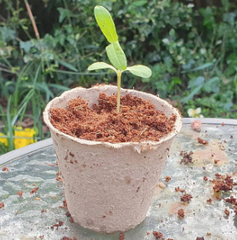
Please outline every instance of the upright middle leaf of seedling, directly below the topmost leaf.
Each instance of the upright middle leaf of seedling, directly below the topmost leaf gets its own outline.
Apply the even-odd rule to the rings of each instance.
[[[111,43],[106,47],[106,53],[110,62],[119,70],[126,70],[127,58],[119,42]]]

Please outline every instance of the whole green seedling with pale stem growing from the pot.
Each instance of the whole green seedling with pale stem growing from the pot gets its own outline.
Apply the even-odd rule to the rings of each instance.
[[[133,75],[149,78],[152,74],[151,69],[144,65],[134,65],[127,67],[127,58],[121,48],[118,35],[116,32],[114,21],[109,13],[109,11],[102,7],[96,6],[94,9],[95,19],[100,27],[100,30],[110,43],[106,47],[107,56],[112,65],[105,62],[96,62],[91,64],[88,67],[88,71],[97,70],[97,69],[113,69],[117,74],[117,113],[120,111],[120,95],[121,95],[121,76],[125,71],[129,71]]]

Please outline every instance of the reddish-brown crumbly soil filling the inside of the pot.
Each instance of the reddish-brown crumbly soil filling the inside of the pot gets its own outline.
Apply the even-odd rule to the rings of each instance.
[[[110,143],[159,141],[172,131],[176,116],[167,118],[148,100],[129,94],[121,97],[116,113],[116,95],[101,93],[92,108],[81,97],[66,109],[50,109],[51,123],[61,132],[86,140]]]

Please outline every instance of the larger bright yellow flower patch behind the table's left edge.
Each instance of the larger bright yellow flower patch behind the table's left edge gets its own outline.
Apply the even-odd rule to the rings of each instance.
[[[36,132],[33,128],[16,127],[14,130],[14,146],[15,149],[25,147],[31,143],[37,142],[34,136]]]

